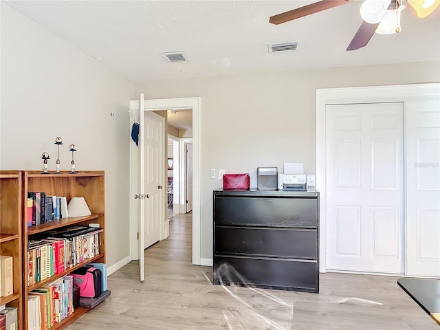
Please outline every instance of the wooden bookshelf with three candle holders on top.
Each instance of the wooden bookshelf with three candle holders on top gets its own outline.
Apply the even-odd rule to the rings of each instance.
[[[28,294],[38,289],[42,285],[47,285],[58,278],[61,278],[73,270],[78,269],[90,262],[105,263],[105,175],[104,171],[83,171],[79,173],[62,172],[60,174],[50,173],[43,174],[41,171],[24,171],[23,172],[23,196],[28,197],[28,192],[45,192],[46,195],[56,195],[67,197],[67,202],[72,197],[84,197],[91,215],[88,217],[69,217],[63,218],[41,225],[27,226],[27,219],[23,219],[23,268],[28,270],[28,241],[36,237],[44,235],[45,232],[55,229],[62,229],[69,225],[89,225],[89,223],[98,223],[102,232],[100,232],[100,254],[91,259],[86,259],[83,263],[70,267],[60,274],[56,274],[50,278],[45,278],[42,281],[28,285],[28,271],[23,272],[23,320],[25,327],[28,329]],[[23,204],[24,205],[24,204]],[[25,217],[24,217],[25,218]],[[80,316],[85,314],[89,309],[78,307],[74,313],[65,318],[61,322],[56,323],[52,330],[64,329],[72,324]]]

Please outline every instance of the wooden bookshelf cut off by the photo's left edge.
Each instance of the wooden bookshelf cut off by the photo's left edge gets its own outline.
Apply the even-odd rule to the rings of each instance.
[[[19,170],[0,171],[0,254],[12,256],[14,293],[0,297],[0,305],[17,307],[18,329],[23,329],[21,228],[23,190]]]

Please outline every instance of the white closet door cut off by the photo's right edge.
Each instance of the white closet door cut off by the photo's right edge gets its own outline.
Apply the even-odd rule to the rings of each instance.
[[[440,276],[440,100],[406,103],[406,274]]]

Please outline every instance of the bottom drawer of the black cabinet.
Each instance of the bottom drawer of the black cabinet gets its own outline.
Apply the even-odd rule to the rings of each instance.
[[[288,259],[214,256],[214,284],[318,292],[318,263]]]

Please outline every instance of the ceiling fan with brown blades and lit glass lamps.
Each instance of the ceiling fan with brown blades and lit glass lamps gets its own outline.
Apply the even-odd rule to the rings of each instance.
[[[360,15],[364,21],[347,50],[358,50],[366,46],[375,33],[400,32],[400,13],[405,9],[404,1],[416,10],[418,17],[428,16],[440,4],[440,0],[364,0],[360,8]],[[349,2],[351,0],[321,0],[272,16],[269,21],[272,24],[281,24]]]

